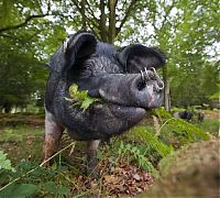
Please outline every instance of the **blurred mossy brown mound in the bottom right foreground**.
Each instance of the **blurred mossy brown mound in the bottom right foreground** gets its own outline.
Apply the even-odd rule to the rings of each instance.
[[[190,144],[160,162],[160,179],[143,197],[218,197],[219,140]]]

